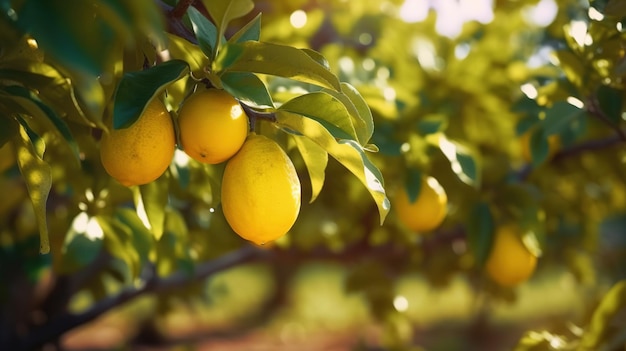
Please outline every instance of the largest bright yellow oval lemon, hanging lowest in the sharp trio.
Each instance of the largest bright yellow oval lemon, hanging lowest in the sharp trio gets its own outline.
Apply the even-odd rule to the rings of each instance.
[[[230,227],[258,245],[276,240],[300,212],[296,169],[273,140],[250,134],[228,160],[222,179],[222,207]]]

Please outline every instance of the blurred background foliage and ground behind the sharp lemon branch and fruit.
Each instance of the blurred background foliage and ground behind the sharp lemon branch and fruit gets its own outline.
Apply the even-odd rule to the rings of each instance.
[[[0,341],[16,333],[68,349],[624,347],[622,1],[254,1],[226,37],[261,13],[261,41],[319,51],[371,108],[379,151],[368,156],[392,199],[381,226],[367,190],[331,159],[309,203],[305,160],[277,135],[299,170],[303,208],[290,233],[263,248],[224,220],[222,166],[177,154],[170,172],[130,190],[99,162],[124,72],[163,61],[162,49],[202,71],[193,33],[171,21],[174,5],[0,1]],[[311,89],[262,78],[277,103]],[[191,83],[168,88],[170,109]],[[449,201],[430,233],[409,231],[393,212],[394,193],[421,175],[437,178]],[[32,200],[46,185],[47,199]],[[154,189],[169,196],[151,197],[163,193]],[[158,240],[137,199],[166,207]],[[506,222],[541,251],[533,278],[514,288],[483,272],[493,228]],[[50,254],[39,253],[42,227]],[[181,278],[204,271],[214,274]],[[151,286],[152,276],[167,283]],[[100,306],[114,308],[58,340],[36,339],[51,321],[79,326],[72,316]]]

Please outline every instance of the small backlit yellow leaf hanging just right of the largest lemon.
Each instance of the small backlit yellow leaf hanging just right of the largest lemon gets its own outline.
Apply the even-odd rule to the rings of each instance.
[[[293,135],[293,140],[296,142],[296,147],[302,155],[311,179],[311,200],[309,203],[312,203],[317,199],[324,186],[328,152],[307,137]]]

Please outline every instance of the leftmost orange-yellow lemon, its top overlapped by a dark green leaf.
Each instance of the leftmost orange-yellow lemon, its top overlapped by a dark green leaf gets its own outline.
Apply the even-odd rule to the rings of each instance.
[[[130,127],[102,135],[104,169],[125,186],[152,182],[167,169],[176,147],[174,123],[165,105],[153,99]]]

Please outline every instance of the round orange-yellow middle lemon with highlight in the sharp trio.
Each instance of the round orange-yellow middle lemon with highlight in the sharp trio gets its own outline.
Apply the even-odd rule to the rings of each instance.
[[[183,150],[198,162],[217,164],[231,158],[248,134],[241,105],[224,90],[194,93],[178,112]]]

